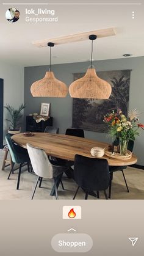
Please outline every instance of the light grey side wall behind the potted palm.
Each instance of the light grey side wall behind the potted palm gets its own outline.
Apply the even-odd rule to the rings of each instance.
[[[24,68],[20,65],[4,63],[0,61],[0,78],[4,79],[4,106],[6,103],[18,108],[24,102]],[[5,120],[8,117],[4,109],[4,134],[7,133],[10,123]],[[21,126],[23,120],[21,120]]]

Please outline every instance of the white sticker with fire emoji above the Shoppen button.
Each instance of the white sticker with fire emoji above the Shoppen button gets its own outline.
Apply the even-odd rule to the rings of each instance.
[[[62,210],[63,219],[81,219],[81,207],[79,205],[65,205]]]

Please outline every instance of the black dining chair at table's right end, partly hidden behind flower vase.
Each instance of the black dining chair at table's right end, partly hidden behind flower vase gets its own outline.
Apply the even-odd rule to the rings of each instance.
[[[118,139],[113,142],[113,145],[118,145]],[[134,141],[129,140],[128,150],[130,150],[132,152],[133,148],[134,148]],[[111,192],[112,192],[113,172],[117,172],[117,170],[120,170],[122,172],[127,191],[129,192],[128,184],[126,182],[126,177],[123,172],[123,170],[126,168],[127,168],[127,166],[109,166],[109,172],[110,172],[109,198],[111,197]]]

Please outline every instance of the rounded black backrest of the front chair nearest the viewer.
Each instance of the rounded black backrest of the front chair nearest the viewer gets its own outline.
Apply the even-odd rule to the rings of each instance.
[[[106,190],[110,179],[107,159],[75,155],[74,179],[77,185],[88,191]]]

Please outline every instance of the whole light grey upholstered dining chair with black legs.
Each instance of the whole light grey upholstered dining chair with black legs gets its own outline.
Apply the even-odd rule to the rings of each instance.
[[[68,167],[57,165],[55,161],[49,160],[48,156],[46,155],[43,149],[36,148],[36,147],[33,147],[32,145],[27,144],[27,151],[29,153],[29,158],[31,159],[32,168],[35,174],[38,176],[37,182],[34,188],[34,192],[32,194],[32,199],[34,198],[38,181],[40,180],[41,182],[41,178],[48,178],[54,181],[56,199],[58,199],[56,178],[59,177],[60,183],[63,188],[60,175],[62,175],[63,171]]]

